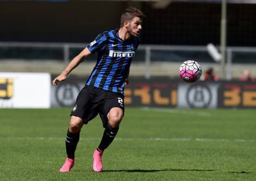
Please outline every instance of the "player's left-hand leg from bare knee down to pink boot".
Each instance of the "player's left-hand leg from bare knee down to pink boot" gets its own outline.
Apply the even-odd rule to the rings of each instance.
[[[66,136],[67,158],[64,165],[60,168],[60,172],[68,172],[74,166],[75,149],[77,148],[80,137],[80,130],[83,125],[84,121],[81,118],[75,117],[74,115],[71,116],[70,126],[67,129]]]

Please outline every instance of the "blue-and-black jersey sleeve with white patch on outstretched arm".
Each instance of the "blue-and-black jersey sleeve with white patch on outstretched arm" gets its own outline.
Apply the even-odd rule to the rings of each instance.
[[[98,35],[98,37],[95,38],[90,44],[87,45],[87,48],[90,52],[99,52],[100,50],[103,50],[106,46],[107,37],[104,35],[104,33],[101,33]]]

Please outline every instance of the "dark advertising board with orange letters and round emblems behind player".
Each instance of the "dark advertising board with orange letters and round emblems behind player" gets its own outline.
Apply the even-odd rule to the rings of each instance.
[[[69,77],[52,85],[52,106],[74,106],[87,78]],[[185,83],[168,77],[131,77],[124,91],[126,106],[178,108],[255,108],[256,84],[239,81]]]

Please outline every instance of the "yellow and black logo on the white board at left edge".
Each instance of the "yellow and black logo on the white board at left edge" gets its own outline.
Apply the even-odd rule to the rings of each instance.
[[[13,96],[13,79],[0,78],[0,99],[10,99]]]

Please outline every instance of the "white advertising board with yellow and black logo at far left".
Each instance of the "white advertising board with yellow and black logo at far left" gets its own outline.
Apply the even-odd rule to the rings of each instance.
[[[49,73],[0,73],[0,108],[50,108]]]

